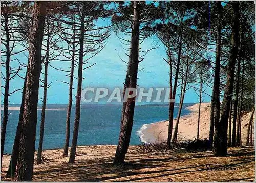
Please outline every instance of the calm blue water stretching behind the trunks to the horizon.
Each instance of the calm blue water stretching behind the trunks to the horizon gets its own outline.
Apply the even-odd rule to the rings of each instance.
[[[46,110],[45,134],[43,149],[63,148],[65,142],[65,121],[67,105],[49,105]],[[118,142],[121,118],[121,105],[84,105],[81,107],[78,145],[114,144]],[[5,153],[11,153],[15,138],[19,110],[9,110],[7,124]],[[73,135],[74,113],[71,115],[71,139]],[[177,116],[178,108],[175,108],[174,117]],[[183,108],[182,115],[189,113]],[[36,130],[36,149],[38,148],[41,110],[38,110],[38,122]],[[168,106],[136,106],[134,125],[131,137],[131,145],[141,143],[138,130],[143,124],[158,122],[168,119]]]

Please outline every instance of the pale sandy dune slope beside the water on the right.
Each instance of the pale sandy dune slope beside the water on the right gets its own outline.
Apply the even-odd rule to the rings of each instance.
[[[198,108],[199,104],[188,107],[191,113],[180,118],[178,126],[178,140],[194,139],[197,137],[197,123],[198,123]],[[242,144],[246,142],[247,128],[250,120],[251,113],[246,113],[242,116]],[[168,136],[168,120],[161,122],[151,123],[144,125],[141,132],[143,133],[143,140],[150,143],[164,142]],[[254,122],[254,118],[253,118]],[[176,119],[173,123],[173,129],[175,128]],[[201,104],[200,112],[200,127],[199,138],[204,139],[209,136],[210,128],[210,103]],[[232,129],[232,126],[231,126]],[[174,131],[174,130],[173,130]],[[254,132],[254,126],[253,126]],[[252,134],[254,139],[254,134]]]

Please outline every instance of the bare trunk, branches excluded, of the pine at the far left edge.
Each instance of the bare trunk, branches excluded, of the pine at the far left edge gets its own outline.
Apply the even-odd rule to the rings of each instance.
[[[6,34],[6,63],[5,63],[5,91],[4,91],[4,115],[1,127],[1,170],[2,170],[2,159],[5,147],[5,136],[6,136],[6,126],[8,121],[8,97],[9,97],[9,84],[10,84],[10,33],[8,26],[8,17],[4,15],[5,21],[5,34]]]

